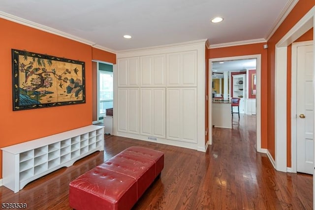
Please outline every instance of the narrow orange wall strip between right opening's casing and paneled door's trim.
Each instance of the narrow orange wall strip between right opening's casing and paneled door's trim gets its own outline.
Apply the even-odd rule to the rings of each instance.
[[[304,35],[296,39],[294,42],[298,41],[309,41],[313,40],[313,28],[310,29],[308,32],[306,32]],[[290,44],[287,47],[287,74],[286,74],[286,89],[287,89],[287,99],[286,99],[286,119],[287,119],[287,124],[286,124],[286,136],[287,136],[287,144],[286,144],[286,164],[287,167],[291,167],[291,77],[292,77],[292,45]]]

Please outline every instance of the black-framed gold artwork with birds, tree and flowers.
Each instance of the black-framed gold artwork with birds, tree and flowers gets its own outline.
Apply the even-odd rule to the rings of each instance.
[[[85,103],[85,63],[12,49],[13,110]]]

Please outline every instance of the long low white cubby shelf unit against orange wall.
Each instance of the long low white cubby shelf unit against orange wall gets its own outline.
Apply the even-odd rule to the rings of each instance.
[[[2,150],[2,184],[14,191],[82,157],[104,150],[104,127],[90,125]]]

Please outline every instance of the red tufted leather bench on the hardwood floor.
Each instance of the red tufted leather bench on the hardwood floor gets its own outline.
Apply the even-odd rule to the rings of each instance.
[[[164,153],[132,146],[70,182],[76,210],[128,210],[164,167]]]

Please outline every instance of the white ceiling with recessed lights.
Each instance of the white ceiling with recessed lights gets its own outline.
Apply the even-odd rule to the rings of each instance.
[[[199,39],[263,40],[291,1],[0,0],[0,12],[122,51]],[[215,16],[223,22],[210,23]]]

